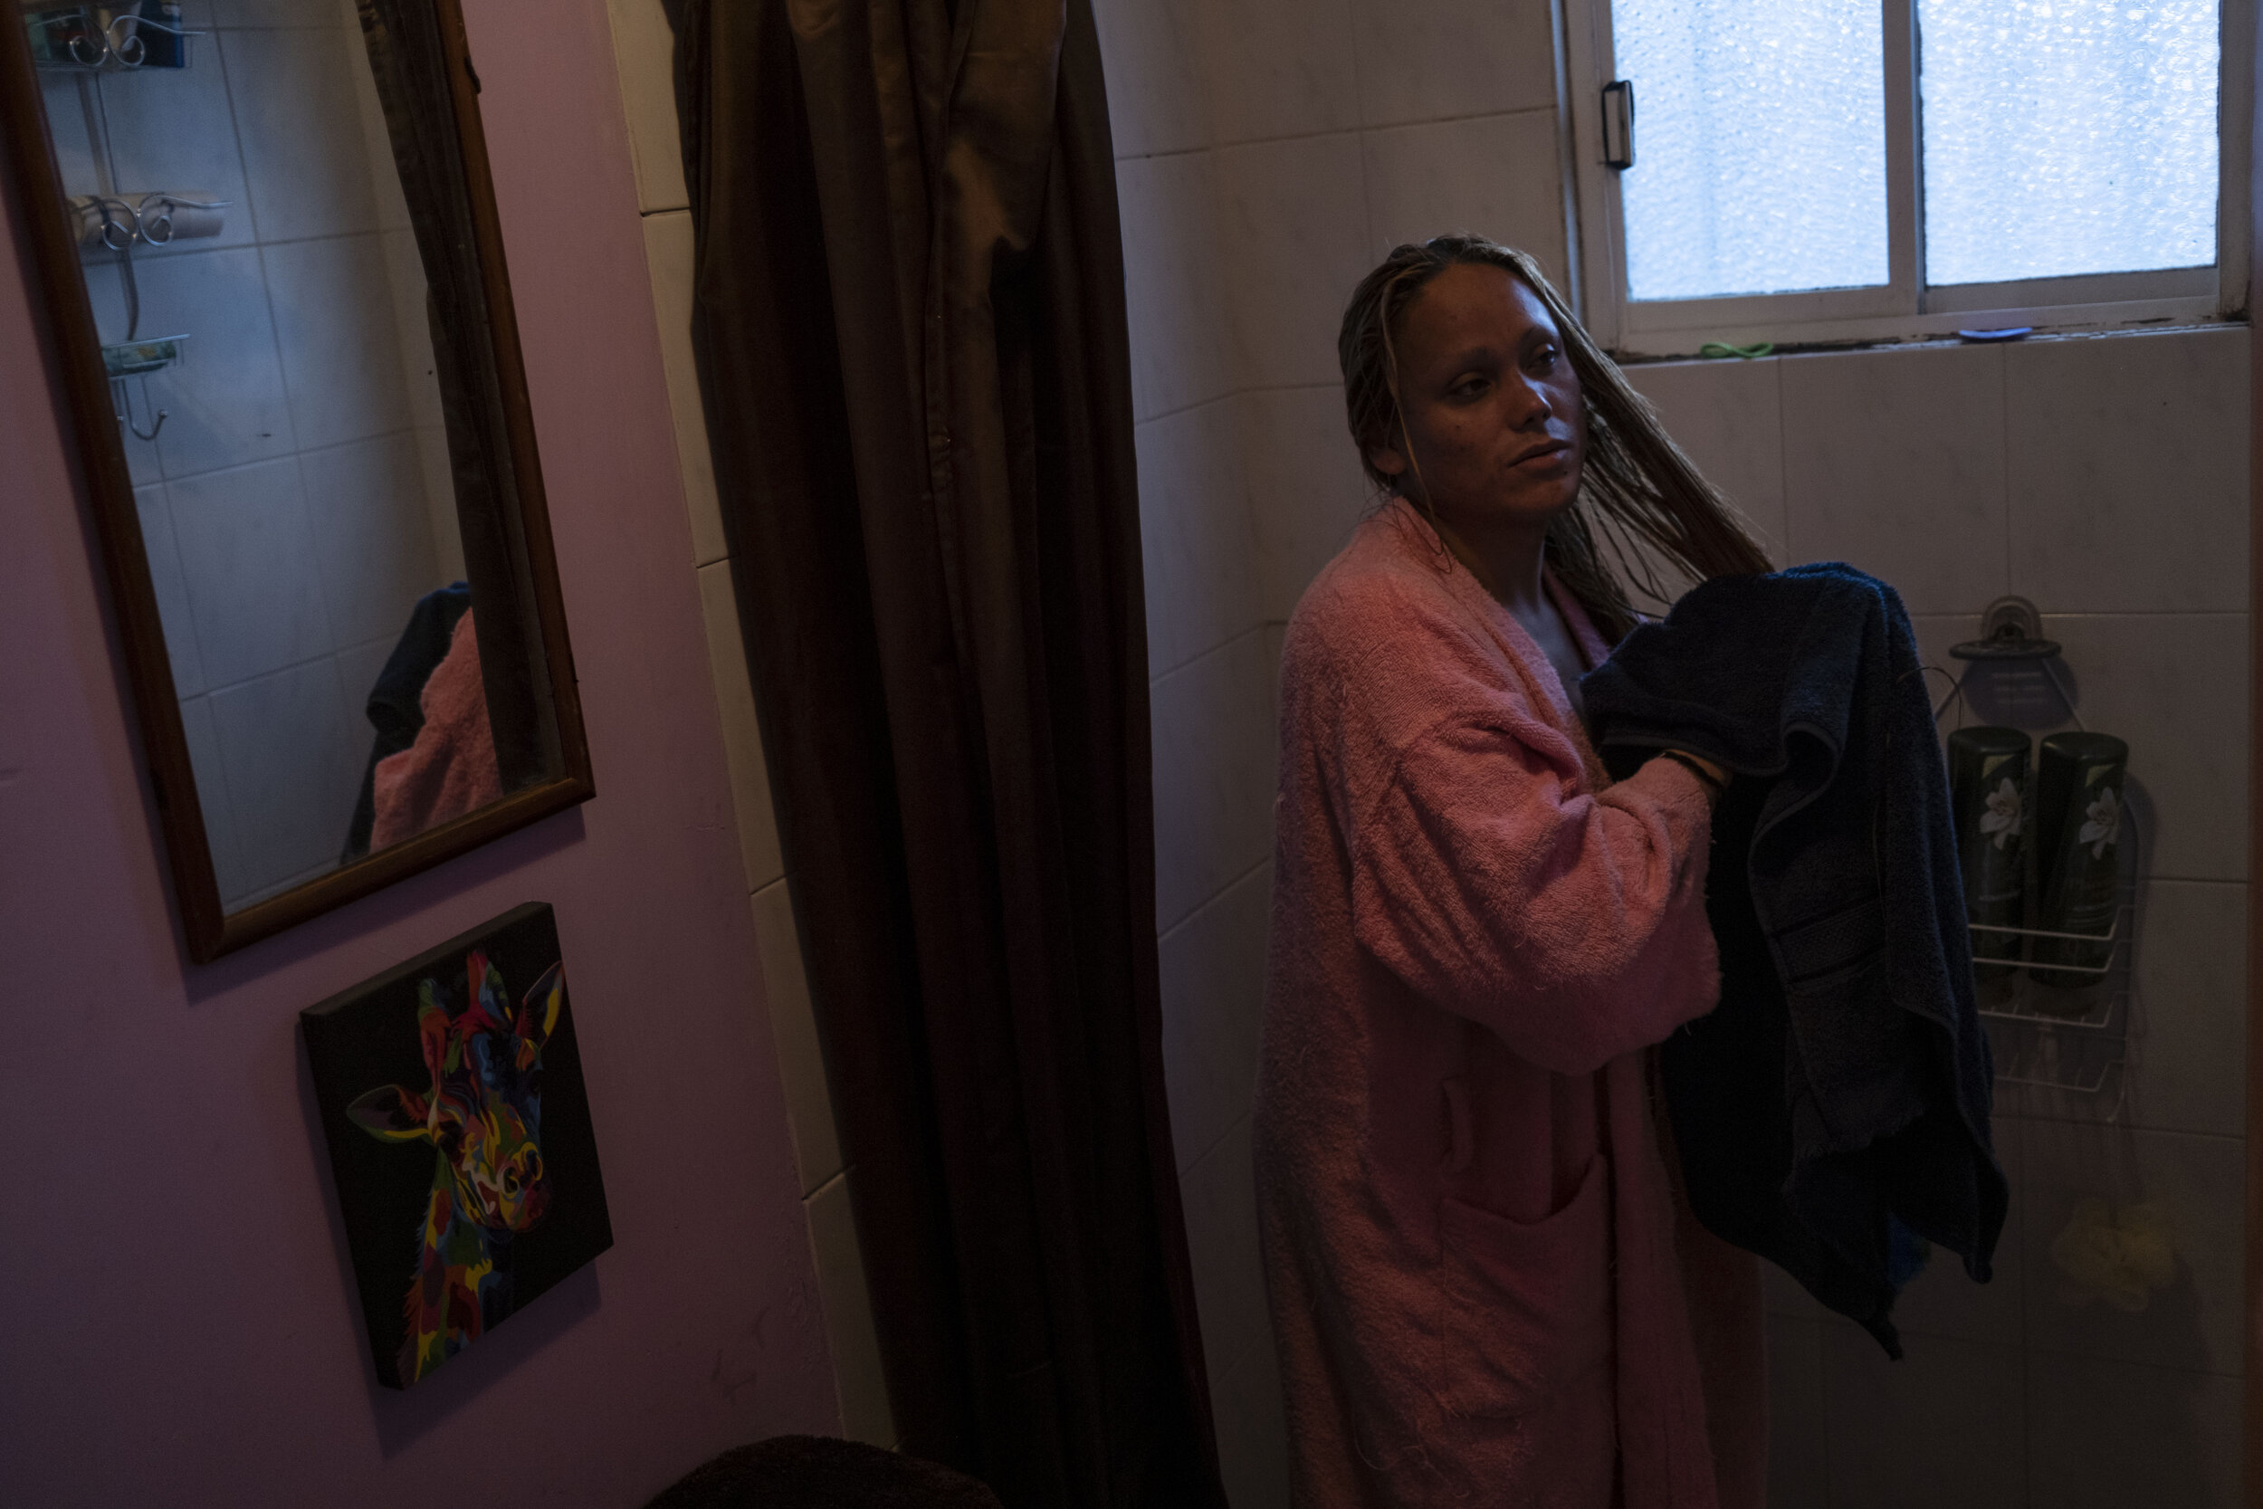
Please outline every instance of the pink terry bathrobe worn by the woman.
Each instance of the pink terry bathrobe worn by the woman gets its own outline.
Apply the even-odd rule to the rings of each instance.
[[[1758,1504],[1756,1271],[1677,1219],[1645,1054],[1718,991],[1702,783],[1609,785],[1392,502],[1288,627],[1276,814],[1256,1172],[1299,1509]],[[1740,1378],[1700,1376],[1686,1281]],[[1720,1484],[1709,1385],[1747,1437]]]

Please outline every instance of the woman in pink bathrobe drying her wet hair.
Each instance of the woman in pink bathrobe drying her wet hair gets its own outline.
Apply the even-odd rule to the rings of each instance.
[[[1758,1507],[1758,1276],[1679,1206],[1647,1050],[1715,998],[1722,771],[1611,785],[1598,550],[1767,570],[1532,258],[1399,247],[1340,337],[1387,493],[1281,663],[1258,1204],[1294,1502]]]

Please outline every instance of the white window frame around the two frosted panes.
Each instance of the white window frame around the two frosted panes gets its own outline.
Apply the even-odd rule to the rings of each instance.
[[[1887,283],[1853,290],[1727,299],[1627,299],[1618,170],[1604,165],[1602,86],[1611,72],[1611,0],[1561,0],[1566,131],[1575,206],[1573,299],[1589,333],[1629,357],[1697,355],[1706,342],[1835,346],[1935,339],[1960,328],[2206,324],[2247,317],[2247,170],[2256,0],[2218,0],[2215,267],[2114,271],[2019,283],[1924,285],[1921,158],[1917,149],[1917,0],[1878,0],[1885,27]],[[1641,163],[1641,79],[1634,154]]]

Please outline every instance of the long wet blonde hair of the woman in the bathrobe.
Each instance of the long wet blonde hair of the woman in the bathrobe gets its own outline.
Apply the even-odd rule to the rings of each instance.
[[[1344,308],[1344,328],[1335,339],[1344,369],[1344,414],[1360,448],[1360,466],[1376,489],[1421,502],[1421,464],[1399,409],[1396,337],[1417,294],[1448,267],[1498,267],[1523,281],[1548,305],[1564,353],[1580,373],[1586,466],[1580,495],[1548,525],[1548,568],[1604,638],[1618,643],[1634,627],[1627,581],[1659,604],[1672,597],[1659,579],[1659,566],[1697,581],[1770,570],[1752,527],[1681,455],[1657,409],[1577,321],[1541,265],[1482,235],[1432,235],[1421,244],[1396,247],[1360,278]],[[1403,475],[1376,468],[1371,452],[1383,446],[1405,452]]]

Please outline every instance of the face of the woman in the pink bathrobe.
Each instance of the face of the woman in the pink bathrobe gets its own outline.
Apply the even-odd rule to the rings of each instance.
[[[1430,278],[1394,339],[1414,441],[1408,491],[1464,529],[1546,527],[1580,493],[1586,409],[1548,305],[1523,278],[1460,262]],[[1408,475],[1403,441],[1369,459]]]

